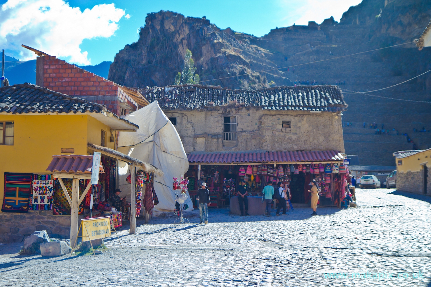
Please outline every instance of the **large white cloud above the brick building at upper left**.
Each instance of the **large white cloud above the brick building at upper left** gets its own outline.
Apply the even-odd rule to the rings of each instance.
[[[91,65],[79,46],[84,39],[110,37],[119,28],[122,9],[112,4],[81,11],[63,0],[9,0],[0,7],[0,46],[16,52],[21,60],[34,59],[21,44],[67,59]]]

